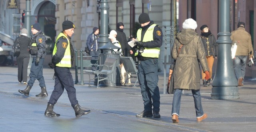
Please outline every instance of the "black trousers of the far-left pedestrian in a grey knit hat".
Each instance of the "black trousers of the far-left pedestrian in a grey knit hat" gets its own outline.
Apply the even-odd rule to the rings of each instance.
[[[28,62],[30,56],[20,54],[17,57],[17,64],[18,64],[18,81],[19,82],[27,82],[28,81]]]

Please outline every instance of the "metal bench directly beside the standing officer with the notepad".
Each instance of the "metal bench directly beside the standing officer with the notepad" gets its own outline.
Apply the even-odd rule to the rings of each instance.
[[[136,68],[136,65],[134,63],[134,60],[132,57],[120,57],[121,62],[124,65],[124,69],[126,71],[126,80],[124,85],[126,84],[126,81],[129,79],[128,74],[130,74],[130,78],[136,78],[136,82],[134,83],[133,87],[136,87],[136,83],[138,82],[138,70]],[[132,74],[136,74],[136,76],[132,76]]]

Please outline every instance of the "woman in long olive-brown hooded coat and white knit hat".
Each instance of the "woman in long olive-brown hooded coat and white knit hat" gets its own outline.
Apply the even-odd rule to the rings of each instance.
[[[194,97],[197,121],[207,118],[201,104],[200,95],[200,65],[210,79],[209,68],[206,61],[204,45],[195,29],[197,23],[194,19],[186,19],[182,24],[182,31],[177,34],[172,48],[172,58],[176,60],[174,68],[174,96],[172,101],[172,121],[178,123],[180,115],[180,102],[182,90],[192,90]]]

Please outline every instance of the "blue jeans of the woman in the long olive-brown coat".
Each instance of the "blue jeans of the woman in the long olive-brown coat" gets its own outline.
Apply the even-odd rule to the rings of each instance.
[[[182,89],[175,89],[173,100],[172,100],[172,115],[180,115],[180,101],[181,101]],[[201,103],[201,94],[200,90],[192,90],[192,94],[194,97],[195,109],[196,109],[196,117],[200,117],[204,115],[202,103]]]

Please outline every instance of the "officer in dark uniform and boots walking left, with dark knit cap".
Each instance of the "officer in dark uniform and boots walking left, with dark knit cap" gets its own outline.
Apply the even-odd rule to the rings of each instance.
[[[32,45],[30,46],[30,54],[33,58],[32,65],[30,68],[29,81],[26,89],[18,90],[20,93],[25,96],[29,96],[29,91],[32,88],[35,80],[39,81],[39,86],[41,87],[41,93],[36,95],[36,97],[46,97],[48,93],[46,91],[46,85],[44,82],[43,76],[43,64],[44,57],[46,56],[45,45],[46,45],[46,37],[41,31],[39,23],[34,23],[31,26],[32,36]],[[33,48],[32,48],[33,47]]]

